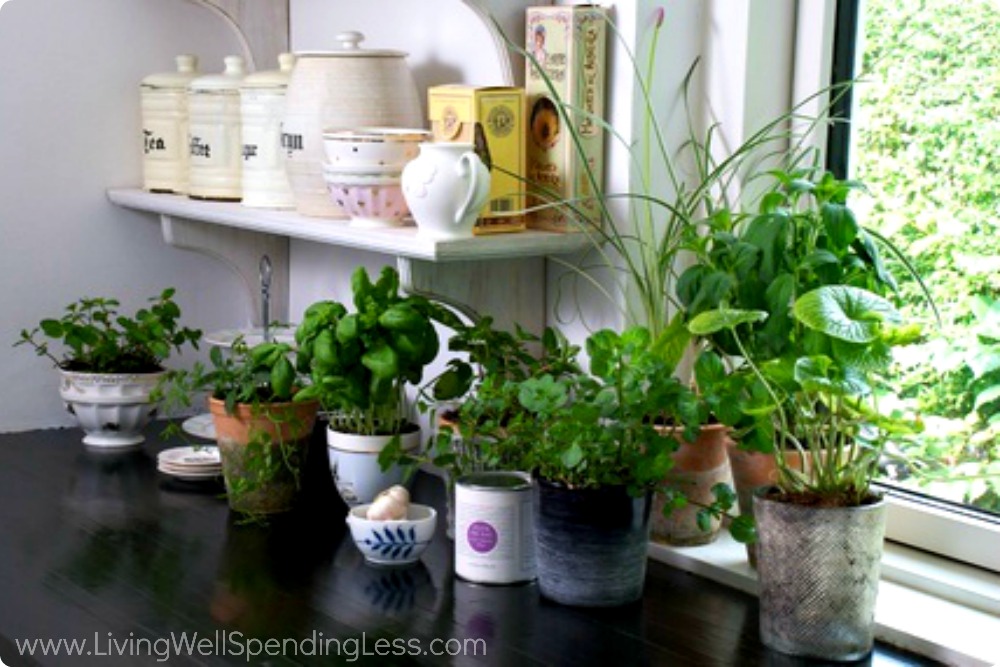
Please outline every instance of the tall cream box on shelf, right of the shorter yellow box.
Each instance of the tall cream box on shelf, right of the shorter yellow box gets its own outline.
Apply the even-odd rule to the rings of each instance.
[[[528,7],[525,93],[528,103],[528,203],[573,200],[585,220],[598,222],[594,200],[604,178],[603,118],[607,13],[596,5]],[[542,72],[565,105],[560,113]],[[565,119],[564,119],[565,116]],[[573,140],[568,121],[579,137]],[[589,170],[587,168],[589,165]],[[581,231],[580,216],[548,207],[528,216],[528,226],[558,232]]]

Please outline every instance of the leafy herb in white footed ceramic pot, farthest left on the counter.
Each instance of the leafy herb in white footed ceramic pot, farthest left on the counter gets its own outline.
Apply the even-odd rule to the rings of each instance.
[[[82,298],[59,318],[22,330],[15,345],[29,345],[58,368],[59,395],[86,434],[84,444],[119,449],[143,442],[155,414],[150,393],[165,373],[163,362],[201,332],[180,324],[175,290],[167,288],[133,315],[119,313],[117,299]],[[50,348],[52,339],[65,348]]]

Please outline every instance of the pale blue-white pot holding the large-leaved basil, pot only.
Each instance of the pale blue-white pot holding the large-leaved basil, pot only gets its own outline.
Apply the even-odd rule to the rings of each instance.
[[[405,450],[420,446],[419,429],[399,437]],[[337,492],[349,506],[370,503],[380,491],[403,480],[403,468],[393,466],[382,472],[378,463],[378,455],[392,438],[391,435],[355,435],[327,428],[330,472]]]

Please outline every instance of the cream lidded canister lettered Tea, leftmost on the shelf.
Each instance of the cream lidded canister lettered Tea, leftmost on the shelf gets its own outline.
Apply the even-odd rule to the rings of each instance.
[[[187,193],[188,84],[198,78],[198,58],[177,56],[177,71],[151,74],[139,86],[142,108],[142,187]]]

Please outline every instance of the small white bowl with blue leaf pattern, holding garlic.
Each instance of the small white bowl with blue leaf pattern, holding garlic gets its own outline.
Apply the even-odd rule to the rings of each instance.
[[[405,519],[372,521],[365,517],[371,503],[352,507],[347,514],[351,538],[365,560],[373,565],[410,565],[420,560],[434,539],[437,511],[410,503]]]

